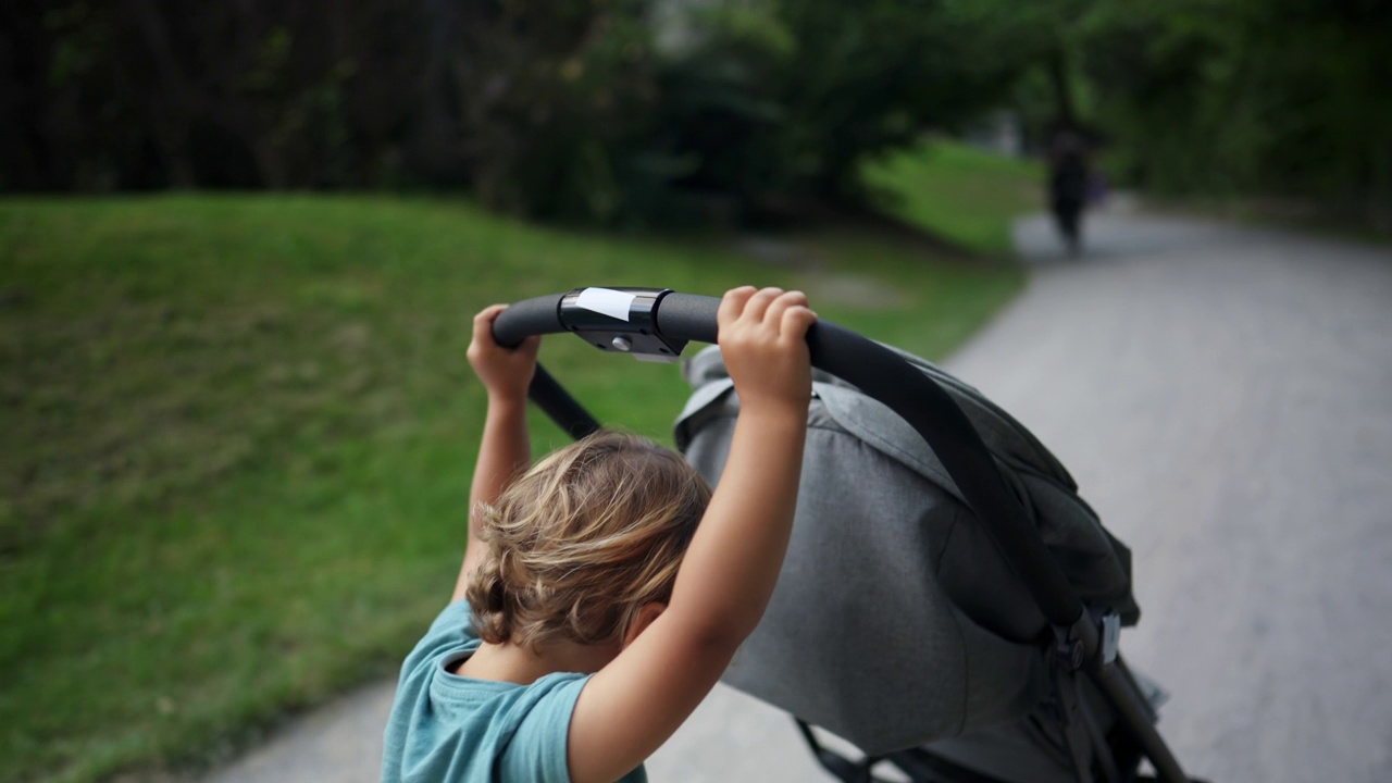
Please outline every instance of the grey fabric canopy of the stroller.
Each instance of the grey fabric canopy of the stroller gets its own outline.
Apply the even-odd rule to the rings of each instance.
[[[901,355],[967,415],[1079,596],[1134,623],[1129,552],[1068,471],[974,389]],[[683,372],[695,392],[677,444],[714,483],[739,400],[718,348]],[[725,681],[867,754],[1030,719],[1050,692],[1033,598],[917,432],[831,376],[813,387],[784,570]]]

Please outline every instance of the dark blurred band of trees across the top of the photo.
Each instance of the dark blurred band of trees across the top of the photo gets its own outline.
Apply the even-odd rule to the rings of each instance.
[[[738,224],[1013,106],[1160,192],[1392,201],[1382,0],[14,0],[0,188],[468,188]]]

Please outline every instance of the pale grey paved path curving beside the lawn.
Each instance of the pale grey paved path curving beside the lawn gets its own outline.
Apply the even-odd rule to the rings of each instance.
[[[1392,769],[1392,252],[1096,216],[1062,259],[1018,227],[1029,290],[949,368],[1069,465],[1130,543],[1133,665],[1161,729],[1222,783]],[[390,684],[309,716],[213,783],[372,782]],[[791,720],[727,688],[656,783],[827,780]]]

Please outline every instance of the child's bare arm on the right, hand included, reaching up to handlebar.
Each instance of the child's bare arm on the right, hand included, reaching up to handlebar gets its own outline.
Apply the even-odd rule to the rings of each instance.
[[[656,751],[715,685],[759,624],[788,549],[816,322],[800,293],[736,288],[720,305],[720,347],[741,412],[720,486],[665,610],[580,691],[568,762],[575,783],[608,783]]]

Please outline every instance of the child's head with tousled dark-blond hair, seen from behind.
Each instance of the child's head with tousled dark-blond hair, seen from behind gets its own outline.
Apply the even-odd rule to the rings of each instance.
[[[482,509],[468,598],[484,641],[624,639],[667,603],[710,488],[677,453],[621,432],[561,449]]]

